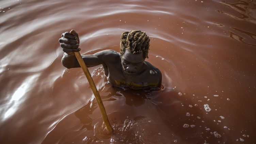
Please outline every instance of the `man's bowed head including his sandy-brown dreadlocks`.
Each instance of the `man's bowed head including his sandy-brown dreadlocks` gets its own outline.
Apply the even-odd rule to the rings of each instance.
[[[120,43],[122,66],[126,74],[132,75],[139,71],[148,58],[149,37],[145,32],[133,30],[123,32]]]

